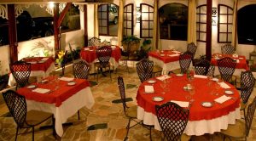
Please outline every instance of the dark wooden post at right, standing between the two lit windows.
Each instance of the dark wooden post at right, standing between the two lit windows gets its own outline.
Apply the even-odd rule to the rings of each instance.
[[[207,59],[212,58],[212,0],[207,0],[207,43],[206,43]]]

